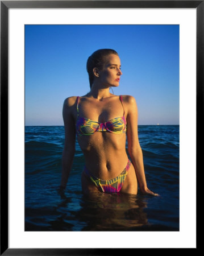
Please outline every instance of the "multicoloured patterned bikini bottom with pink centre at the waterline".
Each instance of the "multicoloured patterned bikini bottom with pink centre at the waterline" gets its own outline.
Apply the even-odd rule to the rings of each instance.
[[[86,166],[84,167],[84,172],[86,176],[88,176],[91,179],[91,181],[94,183],[94,185],[99,189],[99,191],[103,193],[105,192],[114,193],[114,192],[119,192],[120,189],[122,188],[130,166],[131,166],[131,162],[128,159],[127,166],[124,168],[121,174],[119,174],[117,177],[111,180],[102,180],[102,179],[99,179],[98,177],[95,177],[93,174],[89,172]]]

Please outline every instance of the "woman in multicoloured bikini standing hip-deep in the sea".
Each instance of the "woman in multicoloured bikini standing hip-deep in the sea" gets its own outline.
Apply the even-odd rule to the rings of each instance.
[[[75,138],[85,156],[82,191],[140,191],[157,195],[147,187],[143,155],[138,140],[138,109],[132,96],[115,96],[110,87],[118,87],[120,59],[113,49],[99,49],[88,59],[90,92],[64,101],[65,144],[61,189],[65,189],[74,157]],[[126,134],[128,159],[126,153]]]

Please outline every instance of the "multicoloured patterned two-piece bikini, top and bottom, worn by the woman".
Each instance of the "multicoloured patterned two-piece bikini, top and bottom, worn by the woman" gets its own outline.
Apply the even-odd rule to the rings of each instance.
[[[120,102],[123,106],[123,98],[119,96]],[[124,106],[123,106],[123,117],[116,117],[110,119],[104,123],[100,123],[97,121],[93,121],[88,118],[80,117],[78,104],[79,104],[80,97],[77,97],[77,122],[76,122],[76,133],[77,136],[82,135],[93,135],[97,131],[101,132],[110,132],[114,134],[121,134],[126,133],[126,119],[124,118]],[[122,188],[124,180],[126,179],[128,170],[131,166],[131,162],[128,159],[127,166],[124,170],[119,174],[117,177],[111,180],[102,180],[98,177],[95,177],[93,174],[89,172],[89,170],[84,167],[84,173],[86,176],[90,178],[90,180],[94,183],[94,185],[98,188],[101,192],[119,192]]]

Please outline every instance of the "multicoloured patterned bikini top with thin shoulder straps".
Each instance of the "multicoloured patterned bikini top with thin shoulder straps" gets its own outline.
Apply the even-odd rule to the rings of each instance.
[[[123,106],[123,98],[119,96]],[[78,113],[79,96],[77,97],[77,122],[76,132],[78,136],[92,135],[95,131],[109,131],[110,133],[120,134],[126,133],[126,119],[124,118],[124,106],[123,117],[116,117],[106,121],[105,123],[99,123],[88,118],[80,117]]]

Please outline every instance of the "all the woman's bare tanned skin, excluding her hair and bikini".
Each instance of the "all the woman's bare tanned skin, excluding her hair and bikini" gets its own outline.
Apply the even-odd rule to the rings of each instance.
[[[135,98],[123,96],[123,106],[119,96],[110,93],[110,86],[119,86],[122,75],[118,55],[110,54],[101,70],[94,68],[94,81],[91,90],[80,97],[79,115],[97,122],[106,122],[115,117],[123,116],[127,121],[127,133],[113,134],[109,132],[95,132],[90,136],[78,137],[78,143],[85,157],[86,168],[104,180],[113,179],[126,167],[128,156],[126,153],[126,135],[128,152],[131,157],[131,167],[120,192],[136,195],[138,184],[140,191],[150,195],[157,195],[147,187],[144,174],[143,155],[138,140],[138,110]],[[61,186],[65,187],[72,167],[77,120],[77,97],[69,97],[64,101],[63,118],[65,125],[65,145],[63,151],[63,172]],[[82,172],[82,191],[85,193],[98,192],[95,185]]]

